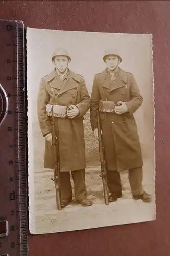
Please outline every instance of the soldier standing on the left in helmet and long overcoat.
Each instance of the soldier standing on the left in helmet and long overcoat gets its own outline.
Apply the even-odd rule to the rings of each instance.
[[[75,198],[82,206],[90,206],[85,185],[85,142],[83,120],[90,108],[84,78],[68,69],[71,58],[67,51],[58,48],[52,55],[55,68],[41,79],[38,94],[38,118],[45,137],[44,167],[53,168],[51,152],[52,133],[46,105],[57,107],[55,129],[59,142],[61,206],[72,202],[70,172],[74,181]],[[69,110],[67,109],[69,107]],[[67,112],[66,116],[64,115]],[[61,118],[65,116],[64,118]]]

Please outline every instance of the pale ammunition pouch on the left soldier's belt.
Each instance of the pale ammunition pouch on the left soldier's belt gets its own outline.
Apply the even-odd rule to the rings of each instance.
[[[53,111],[52,111],[53,109]],[[46,105],[46,115],[47,116],[53,116],[54,117],[60,117],[65,118],[67,116],[67,107],[66,106],[60,106],[60,105]]]

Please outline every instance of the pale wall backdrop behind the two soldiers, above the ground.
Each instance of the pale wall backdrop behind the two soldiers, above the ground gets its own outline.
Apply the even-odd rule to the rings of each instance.
[[[154,109],[152,74],[152,36],[150,34],[115,34],[78,31],[27,30],[27,87],[28,87],[28,143],[29,159],[34,172],[43,170],[45,140],[37,118],[37,95],[43,76],[54,68],[51,62],[57,47],[65,48],[72,61],[69,68],[81,74],[91,96],[93,77],[106,68],[103,54],[114,47],[122,56],[120,67],[132,72],[137,81],[143,104],[135,118],[144,160],[149,160],[154,172]],[[91,130],[89,112],[85,115],[84,133],[86,164],[99,165],[98,141]]]

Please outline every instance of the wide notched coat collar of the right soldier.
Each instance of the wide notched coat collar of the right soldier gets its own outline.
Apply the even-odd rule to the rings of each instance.
[[[123,69],[119,68],[116,80],[112,82],[107,69],[105,69],[101,73],[101,83],[104,87],[110,89],[110,91],[113,91],[127,84],[127,73]]]

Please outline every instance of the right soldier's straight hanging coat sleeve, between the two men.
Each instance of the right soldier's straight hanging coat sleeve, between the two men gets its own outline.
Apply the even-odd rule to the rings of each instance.
[[[97,112],[99,109],[100,98],[101,97],[100,97],[97,77],[94,76],[92,92],[91,92],[91,105],[90,105],[90,122],[91,122],[91,128],[93,131],[95,128],[98,127]]]

